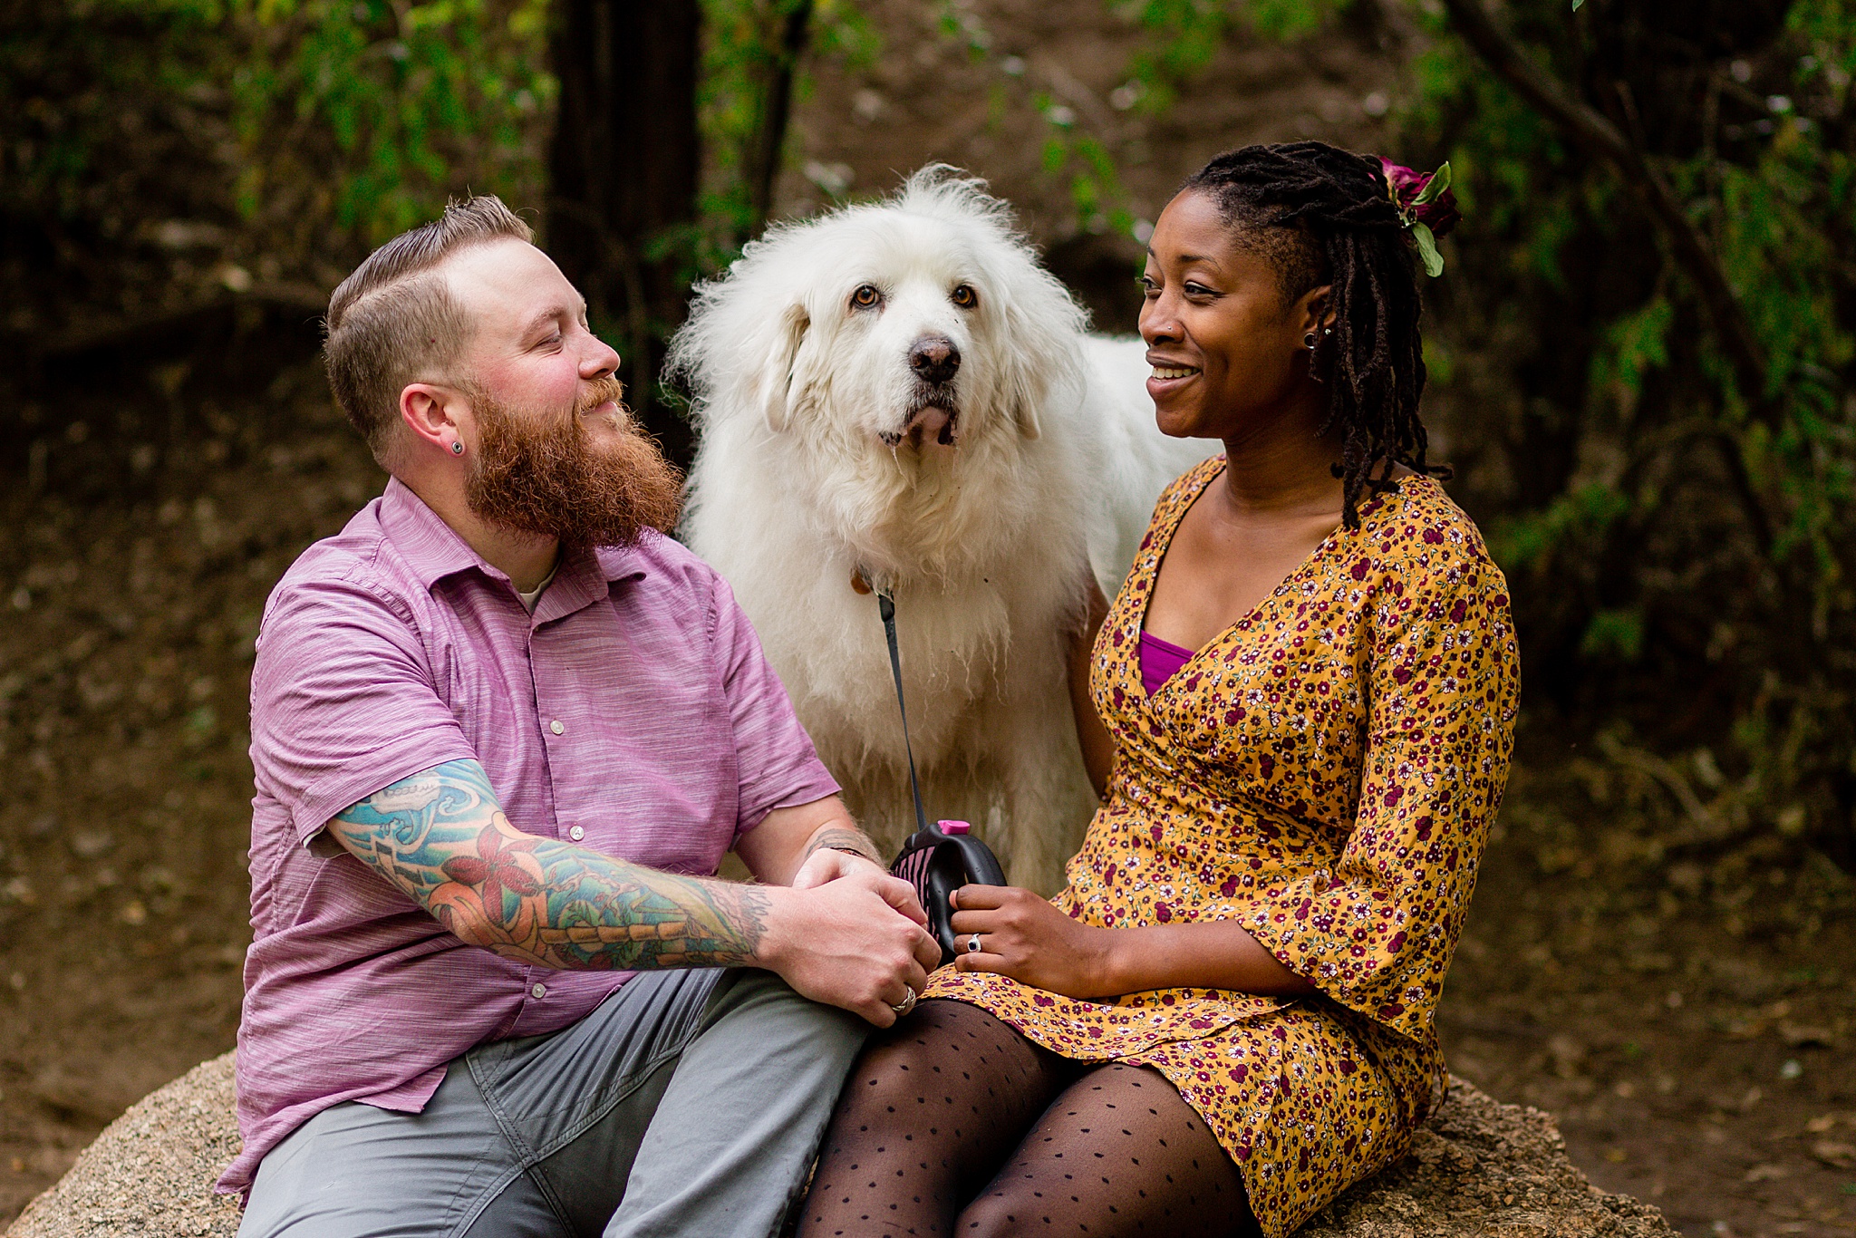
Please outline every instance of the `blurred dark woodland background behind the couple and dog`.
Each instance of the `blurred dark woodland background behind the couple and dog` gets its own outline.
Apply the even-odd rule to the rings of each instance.
[[[186,1052],[228,1043],[243,872],[199,839],[243,828],[256,605],[379,481],[312,362],[371,245],[451,195],[525,210],[687,458],[663,342],[768,219],[963,163],[1132,330],[1171,187],[1301,135],[1455,169],[1427,416],[1520,622],[1516,898],[1624,872],[1565,915],[1650,924],[1633,976],[1682,971],[1644,934],[1683,900],[1806,943],[1856,870],[1852,76],[1849,0],[0,0],[0,1002],[184,947],[221,969],[182,976]],[[115,945],[30,948],[110,891]],[[1544,984],[1548,930],[1502,924]],[[1843,1043],[1730,980],[1721,1026]],[[148,1082],[85,1101],[7,1036],[0,1110]]]

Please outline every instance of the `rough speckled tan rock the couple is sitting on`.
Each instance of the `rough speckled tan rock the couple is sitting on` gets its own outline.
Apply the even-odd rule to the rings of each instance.
[[[238,1151],[232,1054],[213,1058],[110,1123],[7,1238],[156,1238],[238,1232],[212,1193]],[[1451,1080],[1409,1156],[1321,1212],[1303,1238],[1676,1238],[1656,1208],[1585,1180],[1552,1119]]]

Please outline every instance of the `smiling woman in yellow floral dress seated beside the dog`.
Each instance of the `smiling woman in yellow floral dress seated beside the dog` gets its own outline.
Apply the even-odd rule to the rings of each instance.
[[[807,1238],[1277,1238],[1437,1103],[1518,676],[1425,462],[1405,199],[1292,143],[1160,215],[1147,390],[1225,455],[1160,497],[1093,642],[1069,887],[958,891],[961,954],[852,1071]]]

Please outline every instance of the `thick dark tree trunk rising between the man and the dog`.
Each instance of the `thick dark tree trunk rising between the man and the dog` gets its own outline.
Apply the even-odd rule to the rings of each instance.
[[[702,4],[557,0],[551,45],[561,100],[546,247],[624,355],[633,412],[687,466],[690,427],[655,384],[689,295]]]

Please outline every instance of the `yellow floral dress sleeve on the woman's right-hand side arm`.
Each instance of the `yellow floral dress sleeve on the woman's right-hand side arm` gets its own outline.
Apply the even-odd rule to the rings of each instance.
[[[1394,570],[1375,592],[1353,832],[1331,872],[1268,891],[1247,926],[1325,995],[1422,1038],[1507,783],[1520,666],[1487,557]]]

